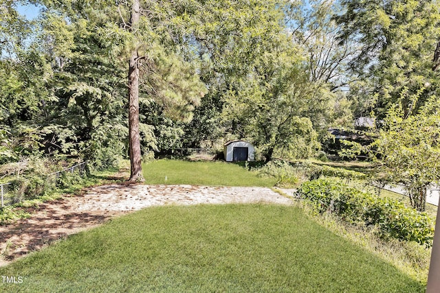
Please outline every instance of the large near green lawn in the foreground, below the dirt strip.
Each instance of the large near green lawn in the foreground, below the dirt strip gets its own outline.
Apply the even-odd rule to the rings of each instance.
[[[4,292],[424,292],[309,220],[263,204],[154,207],[0,269]]]

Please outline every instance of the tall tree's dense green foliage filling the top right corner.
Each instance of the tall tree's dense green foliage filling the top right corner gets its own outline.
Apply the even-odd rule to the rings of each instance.
[[[351,86],[351,97],[363,100],[362,115],[375,110],[381,119],[406,89],[410,95],[421,91],[418,106],[430,95],[439,94],[438,74],[432,71],[432,56],[440,35],[440,5],[429,1],[341,1],[335,16],[341,27],[340,41],[355,40],[360,49],[351,59],[351,72],[360,77]],[[415,105],[404,99],[407,113]]]

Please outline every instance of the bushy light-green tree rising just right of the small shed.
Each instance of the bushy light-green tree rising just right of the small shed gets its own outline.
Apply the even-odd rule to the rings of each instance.
[[[289,44],[279,36],[271,52],[257,58],[249,78],[228,91],[223,107],[225,119],[236,123],[240,136],[250,138],[266,161],[276,152],[307,158],[319,148],[308,118],[311,87],[298,50]]]

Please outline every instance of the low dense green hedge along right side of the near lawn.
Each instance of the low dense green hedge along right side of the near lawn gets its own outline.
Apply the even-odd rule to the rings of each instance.
[[[433,220],[426,213],[406,207],[398,200],[378,198],[329,179],[303,183],[297,196],[309,201],[318,213],[328,211],[350,223],[375,225],[382,237],[432,246]]]

